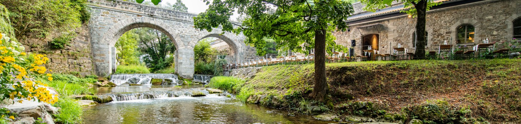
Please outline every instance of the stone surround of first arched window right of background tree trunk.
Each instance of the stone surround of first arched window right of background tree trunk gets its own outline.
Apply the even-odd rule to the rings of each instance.
[[[481,41],[482,38],[480,38],[479,34],[481,34],[481,32],[479,32],[480,28],[481,28],[481,23],[479,23],[478,21],[474,20],[474,19],[462,19],[460,21],[457,21],[456,23],[452,24],[451,26],[451,39],[446,39],[447,41],[451,40],[452,44],[457,44],[456,42],[456,34],[457,34],[457,31],[456,31],[456,28],[460,27],[460,26],[463,26],[465,24],[470,24],[472,26],[474,26],[474,43],[463,43],[463,45],[474,45],[474,44],[477,44],[478,42],[476,41]]]

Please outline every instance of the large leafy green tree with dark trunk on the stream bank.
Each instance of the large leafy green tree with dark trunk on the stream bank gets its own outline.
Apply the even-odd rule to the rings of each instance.
[[[277,45],[294,51],[303,51],[302,44],[315,48],[315,85],[311,96],[324,101],[329,90],[326,81],[326,44],[334,44],[334,30],[345,31],[345,19],[353,13],[353,7],[342,0],[248,0],[209,1],[204,13],[194,18],[195,28],[212,31],[222,30],[247,36],[245,41],[262,51],[266,41],[275,40]],[[211,3],[211,4],[210,4]],[[229,21],[234,10],[247,15],[242,24]],[[306,47],[308,48],[308,47]],[[309,47],[311,48],[311,47]]]

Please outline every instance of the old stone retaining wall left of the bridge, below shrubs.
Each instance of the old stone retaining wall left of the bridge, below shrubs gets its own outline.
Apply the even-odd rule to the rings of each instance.
[[[26,52],[46,54],[49,61],[45,66],[53,70],[52,73],[94,75],[88,26],[83,24],[76,33],[77,37],[72,39],[64,49],[53,49],[48,45],[53,40],[51,38],[57,34],[52,34],[47,39],[28,38],[20,42]]]

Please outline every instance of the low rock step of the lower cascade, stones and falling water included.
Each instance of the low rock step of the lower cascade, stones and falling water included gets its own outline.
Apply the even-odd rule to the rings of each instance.
[[[77,99],[81,100],[92,100],[98,103],[108,103],[116,101],[131,101],[131,100],[145,100],[152,98],[166,98],[166,97],[180,97],[180,96],[206,96],[213,93],[219,93],[217,95],[223,95],[221,90],[217,89],[188,89],[178,91],[147,91],[137,93],[108,93],[98,95],[82,95],[76,96]]]

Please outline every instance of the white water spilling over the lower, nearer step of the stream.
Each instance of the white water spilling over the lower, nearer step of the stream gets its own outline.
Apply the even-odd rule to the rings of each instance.
[[[183,90],[183,91],[149,91],[141,93],[110,93],[105,94],[112,98],[113,101],[131,101],[131,100],[145,100],[152,98],[165,98],[165,97],[179,97],[179,96],[206,96],[208,95],[206,90]]]

